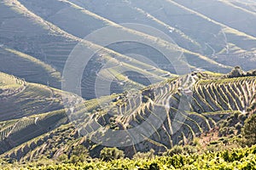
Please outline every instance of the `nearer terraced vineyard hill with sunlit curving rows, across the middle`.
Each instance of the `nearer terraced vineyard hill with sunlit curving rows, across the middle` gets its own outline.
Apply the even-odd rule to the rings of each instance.
[[[174,145],[189,144],[204,133],[214,132],[221,128],[223,121],[232,120],[228,127],[243,124],[244,117],[249,114],[247,109],[256,102],[255,83],[255,77],[223,78],[210,72],[195,72],[160,82],[134,94],[111,96],[110,103],[108,98],[89,100],[84,105],[80,105],[83,103],[78,100],[69,105],[67,115],[61,110],[38,115],[36,125],[33,124],[36,116],[2,123],[7,124],[3,130],[5,135],[15,124],[18,128],[13,130],[15,136],[24,133],[22,129],[26,130],[29,126],[40,123],[42,127],[54,125],[47,130],[43,128],[44,133],[41,131],[35,139],[10,146],[2,156],[20,161],[32,161],[41,158],[42,154],[56,158],[63,153],[68,154],[78,144],[84,144],[93,157],[99,156],[99,150],[106,144],[119,144],[125,156],[129,157],[149,149],[164,152]],[[71,123],[67,122],[67,118]],[[61,127],[55,128],[57,126]],[[137,139],[131,139],[135,135]],[[53,146],[57,147],[53,149]]]

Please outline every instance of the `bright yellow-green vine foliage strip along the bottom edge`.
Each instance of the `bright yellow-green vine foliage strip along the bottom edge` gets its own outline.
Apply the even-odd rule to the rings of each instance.
[[[2,161],[3,169],[14,165]],[[254,169],[256,167],[256,146],[223,151],[207,151],[198,154],[155,156],[152,159],[118,159],[112,161],[90,160],[77,163],[40,161],[20,166],[23,169]]]

